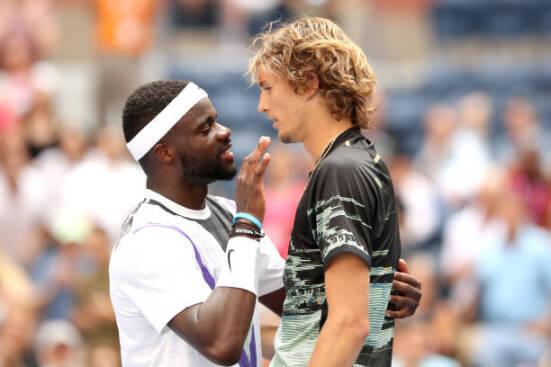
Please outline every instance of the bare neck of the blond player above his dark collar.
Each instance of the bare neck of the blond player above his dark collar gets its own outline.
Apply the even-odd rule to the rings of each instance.
[[[350,129],[352,122],[346,120],[335,120],[329,118],[322,121],[316,121],[311,131],[304,139],[304,149],[314,159],[314,162],[318,160],[323,150],[334,140],[342,134],[344,131]]]

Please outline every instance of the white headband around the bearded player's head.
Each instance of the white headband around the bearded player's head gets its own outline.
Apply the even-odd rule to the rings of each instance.
[[[170,103],[140,130],[126,146],[136,161],[144,155],[184,116],[193,106],[203,98],[207,92],[189,82],[184,89]]]

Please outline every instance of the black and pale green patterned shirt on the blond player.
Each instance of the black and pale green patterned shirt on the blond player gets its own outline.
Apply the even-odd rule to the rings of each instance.
[[[271,367],[307,366],[327,318],[324,272],[352,253],[370,269],[370,333],[354,366],[390,366],[394,321],[385,318],[400,257],[387,167],[358,128],[343,132],[312,173],[297,207],[285,264],[286,299]]]

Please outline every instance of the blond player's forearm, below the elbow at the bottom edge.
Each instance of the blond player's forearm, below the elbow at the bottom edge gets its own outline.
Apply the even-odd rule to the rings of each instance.
[[[352,366],[358,358],[368,332],[369,326],[363,327],[361,323],[333,322],[327,319],[308,366]]]

